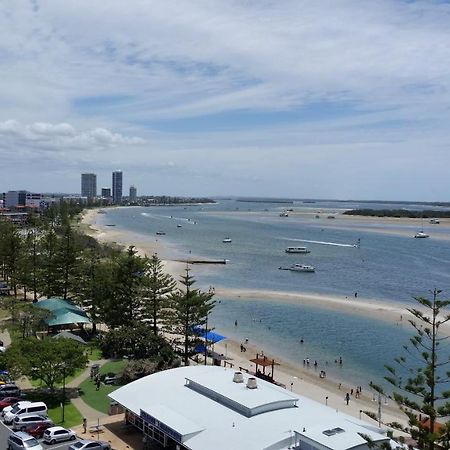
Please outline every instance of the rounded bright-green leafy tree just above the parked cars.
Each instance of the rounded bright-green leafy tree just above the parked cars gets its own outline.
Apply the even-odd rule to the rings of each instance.
[[[5,359],[11,373],[42,380],[51,391],[64,376],[74,375],[88,361],[80,343],[50,337],[14,341],[6,350]]]

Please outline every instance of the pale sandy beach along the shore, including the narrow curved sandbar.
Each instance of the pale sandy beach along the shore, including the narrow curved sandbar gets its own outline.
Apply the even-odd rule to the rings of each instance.
[[[100,242],[116,243],[118,245],[128,247],[134,245],[138,253],[142,256],[149,256],[153,253],[163,259],[165,269],[175,278],[178,278],[185,269],[185,264],[179,261],[167,260],[164,254],[164,248],[157,239],[154,242],[149,241],[148,236],[140,235],[126,230],[119,230],[115,227],[108,227],[97,223],[98,210],[87,210],[83,214],[82,223],[87,225],[90,234],[98,239]],[[330,308],[346,313],[361,314],[371,317],[376,317],[380,320],[389,322],[398,322],[400,320],[407,320],[408,313],[401,304],[389,304],[387,302],[379,302],[368,299],[345,298],[339,296],[325,296],[312,295],[306,293],[292,293],[280,291],[263,291],[263,290],[245,290],[245,289],[231,289],[218,288],[216,289],[216,296],[222,298],[230,298],[242,301],[254,300],[276,300],[280,302],[289,302],[296,304],[313,304],[319,305],[323,308]],[[237,370],[254,371],[255,366],[249,362],[249,359],[254,358],[256,353],[264,352],[264,349],[256,342],[245,343],[247,351],[240,351],[241,342],[232,339],[226,339],[218,344],[215,344],[215,351],[226,355],[229,364]],[[310,368],[302,367],[300,365],[292,364],[288,361],[278,358],[276,355],[265,353],[268,357],[274,357],[280,364],[275,367],[275,379],[284,384],[287,389],[292,389],[293,392],[307,396],[319,402],[327,403],[329,406],[335,408],[337,411],[345,411],[355,417],[364,418],[361,411],[372,411],[377,413],[378,401],[373,401],[372,394],[363,392],[360,398],[351,396],[349,405],[345,404],[344,397],[347,392],[356,391],[356,386],[351,386],[342,380],[333,380],[330,378],[320,378],[320,370],[315,370],[313,365]],[[320,368],[322,369],[322,368]],[[406,416],[398,409],[392,400],[388,400],[388,404],[382,404],[382,419],[383,422],[398,421],[406,424]],[[370,418],[366,419],[377,425],[375,421]]]

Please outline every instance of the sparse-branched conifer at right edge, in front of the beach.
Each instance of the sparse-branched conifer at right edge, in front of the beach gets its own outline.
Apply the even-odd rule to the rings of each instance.
[[[404,356],[395,359],[395,366],[385,366],[389,372],[385,379],[396,388],[393,396],[408,416],[411,436],[420,448],[429,450],[438,443],[449,448],[445,430],[450,422],[441,430],[436,425],[438,418],[450,415],[450,390],[445,389],[450,381],[450,371],[446,370],[450,359],[441,345],[448,339],[441,327],[450,320],[446,312],[450,301],[439,300],[440,293],[434,289],[431,299],[414,297],[422,308],[408,308],[414,317],[409,320],[415,331],[411,345],[403,346]],[[383,393],[379,386],[372,387]],[[420,418],[428,418],[427,423]]]

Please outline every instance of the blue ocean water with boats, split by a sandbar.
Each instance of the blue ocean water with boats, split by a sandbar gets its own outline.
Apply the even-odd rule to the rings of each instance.
[[[264,289],[353,299],[357,292],[358,302],[379,299],[411,304],[412,296],[429,295],[435,287],[449,294],[450,241],[433,239],[433,235],[445,231],[439,225],[424,223],[432,237],[413,239],[415,226],[377,225],[380,231],[408,233],[399,236],[369,231],[352,219],[345,225],[339,217],[327,219],[343,209],[364,206],[392,208],[381,203],[223,200],[214,205],[108,209],[106,214],[98,215],[97,221],[141,233],[149,241],[160,240],[174,259],[227,259],[226,265],[193,267],[192,274],[203,289]],[[430,208],[420,204],[403,207]],[[312,214],[280,217],[286,208]],[[320,219],[315,218],[316,214]],[[159,230],[166,235],[157,236]],[[233,242],[223,243],[225,237]],[[361,246],[355,248],[358,239]],[[289,255],[284,252],[288,246],[307,246],[311,253]],[[292,263],[311,264],[316,272],[278,270]],[[217,300],[211,323],[218,332],[240,340],[248,338],[295,363],[302,364],[307,357],[317,359],[318,370],[362,385],[369,380],[379,382],[385,374],[383,365],[401,354],[401,346],[411,333],[410,327],[400,321],[392,325],[314,305]],[[339,357],[344,360],[342,366],[334,362]]]

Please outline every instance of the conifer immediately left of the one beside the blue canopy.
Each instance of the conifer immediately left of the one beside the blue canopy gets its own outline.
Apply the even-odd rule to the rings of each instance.
[[[176,284],[171,275],[164,273],[162,262],[156,253],[147,261],[142,285],[144,316],[150,320],[153,333],[157,335],[158,326],[167,321],[169,296]]]

